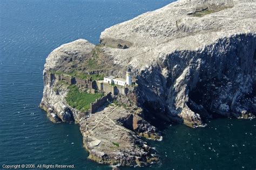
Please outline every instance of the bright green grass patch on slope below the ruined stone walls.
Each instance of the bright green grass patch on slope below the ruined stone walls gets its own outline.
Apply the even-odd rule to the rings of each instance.
[[[103,96],[102,93],[92,94],[87,92],[80,92],[76,85],[70,85],[68,88],[69,93],[65,98],[66,101],[71,107],[76,108],[82,112],[89,110],[90,104]]]

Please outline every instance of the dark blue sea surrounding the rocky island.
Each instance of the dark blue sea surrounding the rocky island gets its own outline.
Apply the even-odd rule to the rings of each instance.
[[[43,67],[61,44],[85,38],[172,0],[0,0],[0,169],[3,165],[75,165],[87,159],[78,125],[52,124],[38,108]],[[161,162],[136,169],[255,169],[256,120],[216,119],[205,128],[172,125],[156,147]],[[133,169],[126,167],[123,169]]]

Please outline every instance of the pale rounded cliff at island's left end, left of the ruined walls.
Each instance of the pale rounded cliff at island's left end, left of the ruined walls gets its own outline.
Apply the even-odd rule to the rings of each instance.
[[[58,72],[69,72],[73,69],[79,69],[79,65],[91,56],[91,51],[95,45],[84,39],[78,39],[75,42],[63,44],[53,50],[46,58],[44,65],[44,91],[40,107],[47,113],[51,121],[55,123],[71,123],[86,117],[85,113],[80,113],[75,108],[71,108],[65,100],[68,93],[66,84],[58,84]]]

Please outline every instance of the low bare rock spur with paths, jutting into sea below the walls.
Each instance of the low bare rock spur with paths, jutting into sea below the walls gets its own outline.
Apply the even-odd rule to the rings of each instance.
[[[138,126],[148,126],[150,128],[145,131],[141,128],[141,131],[149,131],[157,137],[156,128],[139,117],[138,113],[139,110],[127,111],[112,105],[92,114],[89,119],[82,120],[80,131],[83,133],[84,146],[90,153],[89,158],[102,164],[121,166],[146,166],[158,161],[157,152],[137,135],[140,133]],[[135,119],[130,123],[125,122],[128,117]],[[143,120],[144,124],[140,124],[138,120]]]

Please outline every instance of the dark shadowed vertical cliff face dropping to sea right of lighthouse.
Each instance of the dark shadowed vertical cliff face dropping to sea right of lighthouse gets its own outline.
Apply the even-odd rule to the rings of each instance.
[[[238,34],[197,51],[170,53],[137,76],[138,103],[190,126],[215,114],[255,114],[255,40],[255,34]]]

